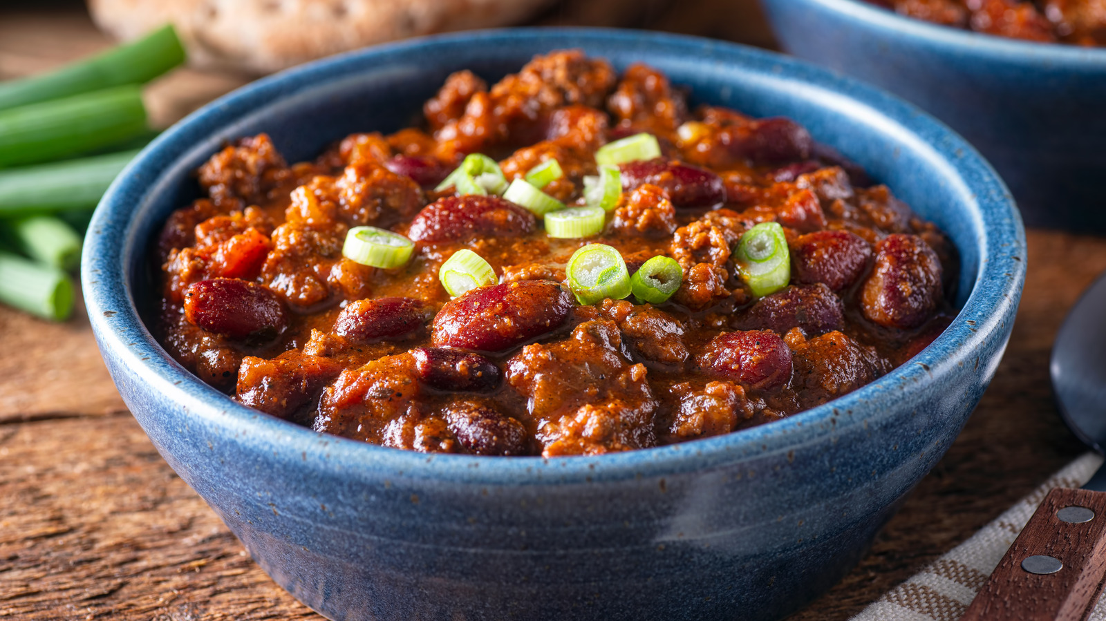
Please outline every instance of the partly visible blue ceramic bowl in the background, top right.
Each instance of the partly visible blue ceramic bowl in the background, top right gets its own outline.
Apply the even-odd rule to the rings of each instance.
[[[1106,49],[978,34],[860,0],[763,0],[799,57],[948,123],[1013,190],[1025,223],[1106,232]]]

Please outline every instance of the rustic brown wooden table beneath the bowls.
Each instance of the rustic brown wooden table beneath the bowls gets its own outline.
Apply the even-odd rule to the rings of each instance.
[[[570,4],[543,19],[613,19]],[[728,19],[709,7],[644,4],[653,13],[637,25],[771,43],[750,4],[718,2]],[[0,78],[107,44],[79,6],[30,7],[0,10]],[[727,22],[740,28],[718,25]],[[154,117],[168,123],[243,81],[180,71],[150,87]],[[862,564],[793,620],[847,619],[1083,451],[1056,415],[1048,351],[1067,309],[1106,270],[1106,239],[1031,231],[1029,243],[1010,347],[963,433]],[[83,309],[52,325],[2,306],[0,617],[322,619],[270,581],[157,454],[115,392]]]

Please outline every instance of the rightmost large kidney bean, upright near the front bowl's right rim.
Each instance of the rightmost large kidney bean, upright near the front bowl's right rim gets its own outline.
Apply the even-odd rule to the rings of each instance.
[[[860,309],[870,322],[894,328],[926,323],[941,298],[941,262],[921,238],[891,234],[876,244],[876,262],[864,282]]]

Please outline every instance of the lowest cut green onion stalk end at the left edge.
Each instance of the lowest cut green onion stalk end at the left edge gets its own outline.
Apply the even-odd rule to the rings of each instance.
[[[73,282],[56,267],[0,252],[0,302],[64,322],[73,313]]]

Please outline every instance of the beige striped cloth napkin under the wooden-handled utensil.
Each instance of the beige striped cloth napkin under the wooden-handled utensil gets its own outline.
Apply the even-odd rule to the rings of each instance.
[[[1086,453],[1067,464],[1006,513],[887,591],[852,621],[957,621],[1048,491],[1082,486],[1102,463],[1097,453]],[[1098,600],[1088,621],[1106,621],[1106,598]]]

